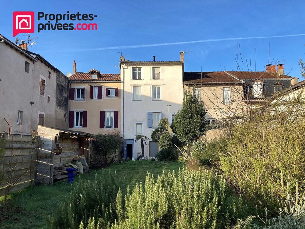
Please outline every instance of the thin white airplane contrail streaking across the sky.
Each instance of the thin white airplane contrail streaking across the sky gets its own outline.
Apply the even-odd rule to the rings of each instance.
[[[181,44],[193,44],[202,42],[216,42],[216,41],[233,41],[233,40],[247,40],[247,39],[260,39],[260,38],[280,38],[280,37],[296,37],[305,36],[305,34],[292,34],[292,35],[281,35],[281,36],[267,36],[267,37],[239,37],[239,38],[220,38],[220,39],[206,39],[198,41],[183,41],[183,42],[170,42],[170,43],[157,43],[157,44],[143,44],[143,45],[125,45],[125,46],[112,46],[102,47],[94,49],[74,49],[74,51],[98,51],[98,50],[109,50],[109,49],[135,49],[135,48],[146,48],[163,45],[181,45]]]

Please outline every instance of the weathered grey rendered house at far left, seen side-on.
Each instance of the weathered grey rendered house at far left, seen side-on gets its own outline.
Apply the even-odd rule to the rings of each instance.
[[[15,45],[0,35],[0,42],[0,132],[31,135],[38,125],[67,129],[68,78],[24,41]]]

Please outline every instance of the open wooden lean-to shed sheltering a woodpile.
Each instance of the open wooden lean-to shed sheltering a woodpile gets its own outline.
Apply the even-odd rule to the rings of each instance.
[[[38,126],[39,147],[36,184],[53,184],[54,167],[71,163],[77,155],[84,155],[88,165],[92,136],[89,133]],[[56,144],[62,153],[54,154]]]

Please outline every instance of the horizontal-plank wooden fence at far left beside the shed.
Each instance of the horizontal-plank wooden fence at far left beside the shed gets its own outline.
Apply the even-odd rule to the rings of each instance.
[[[37,139],[0,134],[0,196],[35,184]]]

